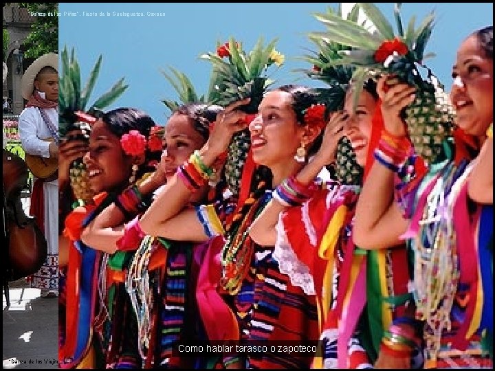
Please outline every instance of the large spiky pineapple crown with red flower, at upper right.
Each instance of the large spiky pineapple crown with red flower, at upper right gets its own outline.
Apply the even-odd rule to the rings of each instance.
[[[353,80],[363,80],[382,72],[397,74],[397,76],[421,89],[424,89],[423,79],[417,65],[423,66],[423,60],[434,56],[424,54],[426,44],[434,27],[434,13],[430,12],[415,26],[416,17],[412,16],[404,29],[400,15],[401,3],[395,3],[394,16],[397,31],[380,10],[372,3],[357,3],[353,12],[362,9],[366,17],[373,23],[375,30],[371,32],[364,24],[355,19],[342,19],[338,14],[315,14],[318,21],[327,26],[325,32],[311,32],[310,38],[320,42],[333,42],[345,45],[338,51],[342,58],[329,60],[329,65],[355,66]]]

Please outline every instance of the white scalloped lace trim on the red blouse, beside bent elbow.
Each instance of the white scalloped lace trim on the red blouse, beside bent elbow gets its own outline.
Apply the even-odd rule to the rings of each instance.
[[[307,295],[316,295],[313,276],[309,273],[309,268],[298,260],[296,253],[294,253],[289,244],[282,223],[282,215],[283,213],[278,216],[276,225],[277,239],[272,256],[278,262],[278,270],[282,274],[289,276],[291,284],[303,289]]]

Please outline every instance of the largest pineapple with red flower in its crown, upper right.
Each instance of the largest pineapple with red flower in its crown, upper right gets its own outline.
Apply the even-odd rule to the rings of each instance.
[[[442,142],[452,133],[454,112],[445,97],[443,86],[432,71],[423,65],[424,49],[432,32],[434,14],[429,14],[419,27],[415,28],[415,17],[408,23],[406,32],[400,16],[401,3],[395,3],[397,35],[393,27],[378,8],[371,3],[358,3],[376,31],[371,33],[355,21],[342,19],[336,14],[316,14],[316,19],[327,26],[326,32],[312,32],[310,38],[321,43],[340,43],[350,50],[338,52],[342,58],[329,60],[329,65],[353,65],[353,79],[362,81],[369,76],[395,74],[390,81],[407,82],[417,88],[415,102],[406,107],[404,118],[408,135],[417,154],[428,162],[443,159]],[[428,72],[426,77],[420,71]],[[360,91],[355,91],[356,97]]]

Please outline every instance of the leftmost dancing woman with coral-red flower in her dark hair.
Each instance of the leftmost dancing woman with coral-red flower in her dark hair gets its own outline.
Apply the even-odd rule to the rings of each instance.
[[[114,199],[124,198],[125,207],[137,207],[144,204],[145,200],[137,191],[135,179],[140,179],[146,171],[149,171],[148,161],[155,158],[156,153],[161,152],[143,146],[143,139],[151,133],[155,123],[145,113],[137,109],[115,109],[104,113],[96,119],[85,115],[85,120],[91,124],[89,137],[89,151],[84,160],[89,174],[91,190],[97,194],[94,203],[88,203],[85,207],[77,207],[65,219],[64,235],[71,241],[69,245],[69,265],[65,276],[65,323],[61,324],[61,344],[59,358],[61,368],[74,366],[94,367],[104,364],[104,360],[94,359],[94,347],[105,349],[108,346],[108,331],[114,330],[111,326],[108,313],[112,313],[112,319],[119,318],[129,325],[127,329],[133,329],[133,318],[129,313],[130,304],[126,303],[123,284],[118,284],[118,272],[111,275],[109,282],[117,282],[112,292],[111,300],[108,300],[107,287],[98,289],[100,280],[104,282],[107,275],[107,263],[112,260],[108,256],[102,256],[94,249],[87,247],[80,240],[82,227],[89,223],[99,212]],[[161,144],[161,143],[160,143]],[[137,153],[137,152],[138,153]],[[153,155],[155,153],[155,155]],[[115,168],[121,171],[115,171]],[[118,194],[120,194],[118,196]],[[139,201],[139,202],[138,202]],[[118,265],[119,258],[125,260],[126,256],[114,257],[113,267],[115,271],[122,269],[122,261]],[[110,261],[109,261],[110,260]],[[100,271],[98,271],[100,269]],[[100,293],[100,300],[96,293]],[[121,303],[113,306],[113,300]],[[125,308],[128,308],[126,311]],[[123,316],[123,317],[122,317]],[[98,334],[99,336],[93,336]],[[136,338],[126,337],[124,348],[126,361],[132,361],[136,357]],[[120,341],[120,337],[113,333],[113,341]],[[138,357],[138,355],[137,355]]]

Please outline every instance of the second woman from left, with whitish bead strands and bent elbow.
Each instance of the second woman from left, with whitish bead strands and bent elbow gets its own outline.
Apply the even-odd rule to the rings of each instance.
[[[162,160],[153,175],[137,186],[140,194],[151,195],[159,186],[172,179],[179,166],[194,157],[194,151],[208,139],[210,123],[219,109],[219,106],[199,103],[185,104],[175,109],[164,127],[165,150]],[[162,139],[157,141],[157,146],[162,148]],[[194,205],[206,202],[209,189],[205,185],[191,194],[186,208],[194,209]],[[132,255],[124,267],[124,282],[138,326],[137,333],[131,334],[140,351],[141,362],[135,366],[195,367],[196,359],[175,357],[172,351],[179,339],[194,340],[201,337],[197,331],[199,325],[193,320],[198,317],[194,288],[199,269],[197,265],[202,260],[204,249],[192,243],[145,237],[138,221],[143,211],[129,212],[117,200],[85,227],[81,240],[91,248],[111,255],[123,251]],[[146,303],[153,304],[148,308]],[[143,313],[148,316],[146,319]],[[148,319],[151,322],[146,323]],[[115,322],[115,326],[122,327],[122,322]],[[110,353],[115,346],[112,344],[109,347]],[[115,356],[122,355],[115,353]]]

